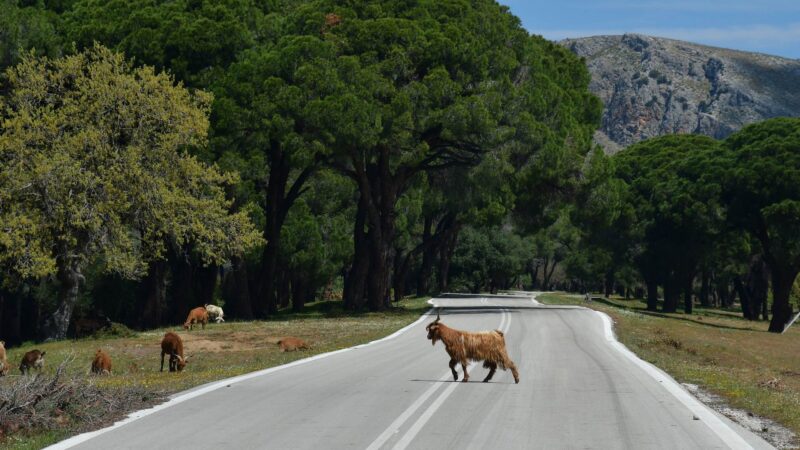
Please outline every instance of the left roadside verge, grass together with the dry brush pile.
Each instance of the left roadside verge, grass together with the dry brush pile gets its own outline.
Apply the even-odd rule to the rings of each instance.
[[[382,312],[352,313],[341,301],[315,302],[300,312],[280,311],[266,321],[209,324],[205,330],[180,326],[127,336],[41,344],[9,350],[10,362],[33,348],[46,351],[42,375],[14,370],[0,378],[0,447],[41,448],[71,434],[110,425],[129,412],[166,401],[180,391],[212,381],[286,364],[387,336],[429,309],[426,298],[404,299]],[[160,368],[164,333],[178,333],[191,355],[183,372]],[[276,342],[299,337],[310,348],[282,352]],[[111,375],[89,374],[98,348],[113,360]],[[168,358],[167,358],[168,359]]]

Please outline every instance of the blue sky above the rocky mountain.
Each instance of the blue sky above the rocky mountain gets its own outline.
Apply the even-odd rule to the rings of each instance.
[[[635,32],[800,58],[800,0],[499,0],[531,33]]]

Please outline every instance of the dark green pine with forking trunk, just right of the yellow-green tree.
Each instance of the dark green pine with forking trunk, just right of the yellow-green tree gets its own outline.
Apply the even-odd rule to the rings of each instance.
[[[284,36],[245,52],[215,85],[214,146],[223,158],[249,160],[262,176],[264,315],[277,309],[274,283],[287,214],[329,153],[313,116],[315,102],[335,89],[328,65],[333,54],[333,45],[319,36]]]

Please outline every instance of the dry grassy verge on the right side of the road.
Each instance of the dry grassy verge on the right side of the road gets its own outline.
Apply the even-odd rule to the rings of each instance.
[[[537,300],[607,313],[617,338],[640,358],[800,436],[800,327],[779,335],[736,311],[665,314],[647,311],[641,300],[613,297],[584,303],[583,296],[555,293]]]

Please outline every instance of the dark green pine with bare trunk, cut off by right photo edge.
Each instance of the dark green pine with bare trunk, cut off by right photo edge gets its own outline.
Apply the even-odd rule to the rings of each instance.
[[[780,333],[792,315],[789,296],[800,271],[800,119],[749,125],[724,146],[728,217],[761,244],[772,278],[769,331]]]

